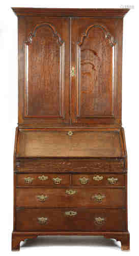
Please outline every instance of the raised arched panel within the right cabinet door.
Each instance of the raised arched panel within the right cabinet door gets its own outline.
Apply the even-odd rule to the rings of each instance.
[[[92,24],[76,43],[75,118],[90,122],[115,116],[117,42],[105,26]],[[87,121],[88,119],[88,121]],[[98,121],[99,122],[99,121]]]

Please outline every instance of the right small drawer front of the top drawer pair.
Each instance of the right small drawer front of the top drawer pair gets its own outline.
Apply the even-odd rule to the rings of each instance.
[[[125,186],[125,175],[93,174],[72,175],[74,186]]]

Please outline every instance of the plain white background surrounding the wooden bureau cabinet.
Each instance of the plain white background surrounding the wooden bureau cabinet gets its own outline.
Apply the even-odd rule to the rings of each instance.
[[[50,4],[48,4],[50,3]],[[122,120],[128,151],[128,216],[131,234],[130,252],[120,250],[120,242],[92,237],[44,237],[21,243],[19,254],[33,255],[76,254],[116,255],[138,251],[138,1],[43,1],[18,0],[1,2],[0,9],[0,92],[1,92],[1,170],[0,170],[0,250],[1,255],[11,252],[13,229],[13,148],[17,124],[17,17],[10,7],[42,8],[120,8],[134,5],[124,18],[123,33],[123,103]],[[114,220],[115,221],[115,220]],[[2,252],[3,251],[3,252]]]

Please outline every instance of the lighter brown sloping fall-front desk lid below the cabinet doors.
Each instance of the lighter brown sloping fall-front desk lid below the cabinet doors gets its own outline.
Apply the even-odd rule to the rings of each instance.
[[[122,157],[118,132],[21,131],[17,157]]]

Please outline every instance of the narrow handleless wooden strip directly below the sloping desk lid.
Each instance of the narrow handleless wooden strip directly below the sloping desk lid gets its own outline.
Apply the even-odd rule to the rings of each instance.
[[[18,172],[123,172],[125,160],[93,159],[18,159]]]

